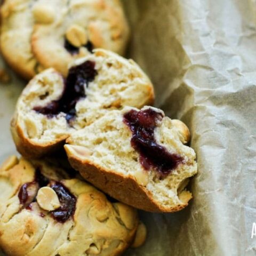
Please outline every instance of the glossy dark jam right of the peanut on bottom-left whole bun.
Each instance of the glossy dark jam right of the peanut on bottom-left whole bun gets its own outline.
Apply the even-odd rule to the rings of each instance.
[[[73,216],[76,210],[76,197],[71,194],[69,189],[60,182],[54,182],[51,188],[56,192],[60,201],[60,207],[51,211],[51,216],[59,221],[65,222]]]

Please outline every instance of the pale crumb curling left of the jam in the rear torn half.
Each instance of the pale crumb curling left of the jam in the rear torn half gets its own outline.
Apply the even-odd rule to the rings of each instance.
[[[44,144],[67,138],[71,128],[63,113],[51,118],[33,110],[36,106],[44,106],[58,99],[64,86],[61,75],[53,69],[47,69],[35,76],[23,90],[17,103],[15,119],[28,140]]]

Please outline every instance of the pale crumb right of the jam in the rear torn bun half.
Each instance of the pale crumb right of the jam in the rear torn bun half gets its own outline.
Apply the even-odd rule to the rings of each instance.
[[[86,60],[95,62],[98,75],[86,89],[86,98],[76,105],[77,129],[110,110],[124,106],[141,108],[153,103],[153,85],[133,60],[126,60],[109,51],[95,50],[89,57],[77,60],[75,65]]]

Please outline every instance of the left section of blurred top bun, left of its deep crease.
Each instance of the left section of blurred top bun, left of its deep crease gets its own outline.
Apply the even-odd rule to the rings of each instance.
[[[40,69],[31,48],[34,0],[5,0],[1,6],[1,53],[22,77],[32,78]]]

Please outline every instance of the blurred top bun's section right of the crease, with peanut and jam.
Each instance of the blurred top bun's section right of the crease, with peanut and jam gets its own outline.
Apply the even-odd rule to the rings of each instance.
[[[92,49],[125,52],[129,27],[119,0],[39,0],[34,10],[37,22],[31,45],[45,68],[66,76],[69,63]],[[49,11],[53,21],[45,23]]]

